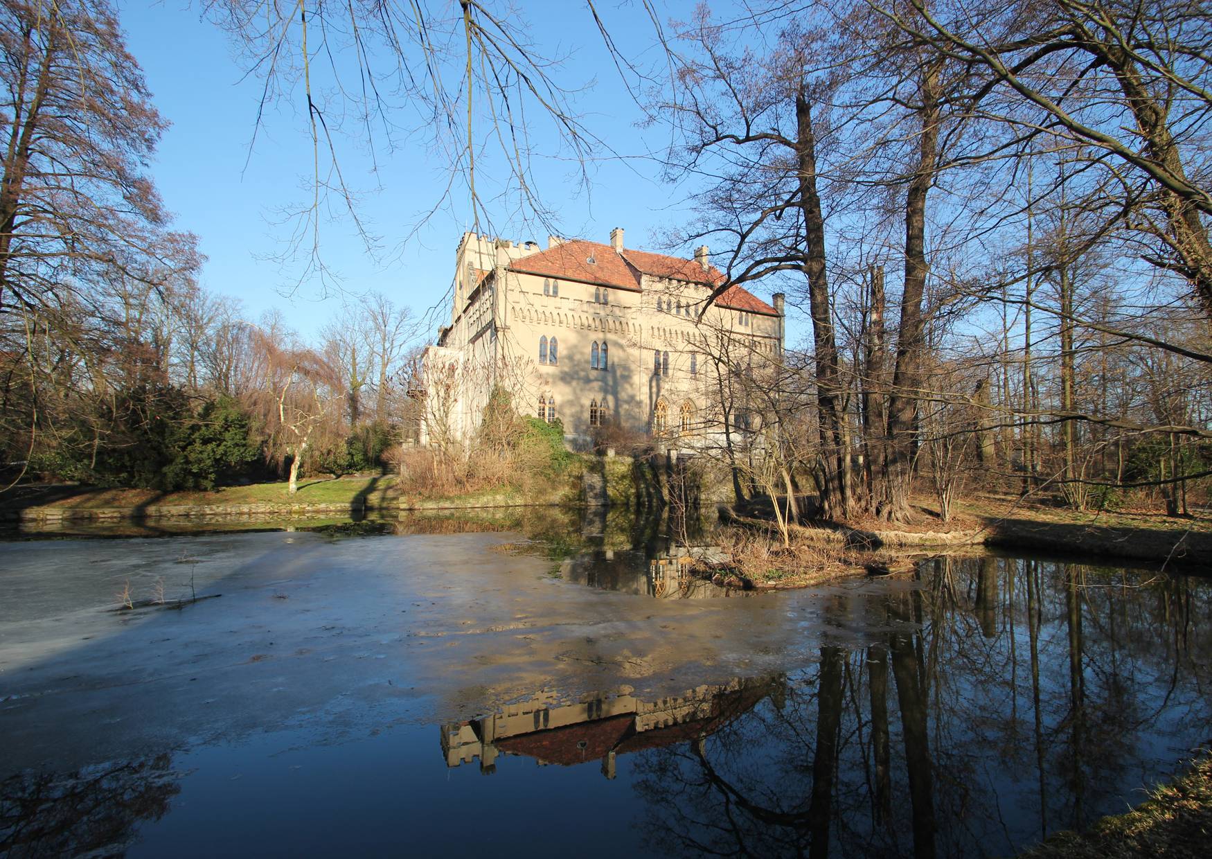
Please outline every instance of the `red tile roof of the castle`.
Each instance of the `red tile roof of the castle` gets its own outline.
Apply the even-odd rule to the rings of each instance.
[[[593,263],[588,262],[590,258]],[[670,277],[713,287],[724,282],[724,275],[714,265],[703,270],[703,267],[693,259],[664,253],[629,248],[619,253],[610,245],[584,239],[570,239],[555,247],[515,259],[509,264],[509,270],[633,291],[641,288],[640,275],[645,274],[650,277]],[[774,308],[741,286],[730,286],[715,303],[733,310],[778,315]]]

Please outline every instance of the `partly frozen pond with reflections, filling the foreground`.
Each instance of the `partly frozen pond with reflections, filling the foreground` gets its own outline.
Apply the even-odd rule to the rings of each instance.
[[[0,544],[0,854],[1011,854],[1212,735],[1206,579],[527,516]]]

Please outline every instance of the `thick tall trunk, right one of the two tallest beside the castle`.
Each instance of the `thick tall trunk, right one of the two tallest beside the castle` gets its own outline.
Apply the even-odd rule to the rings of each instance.
[[[917,400],[922,388],[926,321],[926,194],[938,167],[938,61],[922,70],[919,86],[917,167],[905,194],[905,279],[901,297],[897,362],[888,396],[888,452],[885,460],[885,498],[879,514],[888,521],[910,517]]]

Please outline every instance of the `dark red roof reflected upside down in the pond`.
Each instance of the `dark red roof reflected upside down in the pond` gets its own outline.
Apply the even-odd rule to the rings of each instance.
[[[766,686],[748,688],[738,694],[718,699],[703,706],[703,717],[650,731],[635,731],[635,716],[622,715],[581,722],[564,728],[536,731],[497,740],[497,749],[514,755],[526,755],[544,763],[572,767],[600,761],[607,752],[625,755],[641,749],[657,749],[673,743],[713,734],[742,714],[753,709],[768,693]],[[584,745],[582,745],[584,744]]]

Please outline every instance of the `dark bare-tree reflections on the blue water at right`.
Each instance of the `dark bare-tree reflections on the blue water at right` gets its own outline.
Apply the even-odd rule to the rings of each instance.
[[[821,649],[779,705],[636,762],[664,852],[1013,853],[1166,778],[1207,734],[1201,582],[939,559],[920,589],[850,596],[888,632]]]

